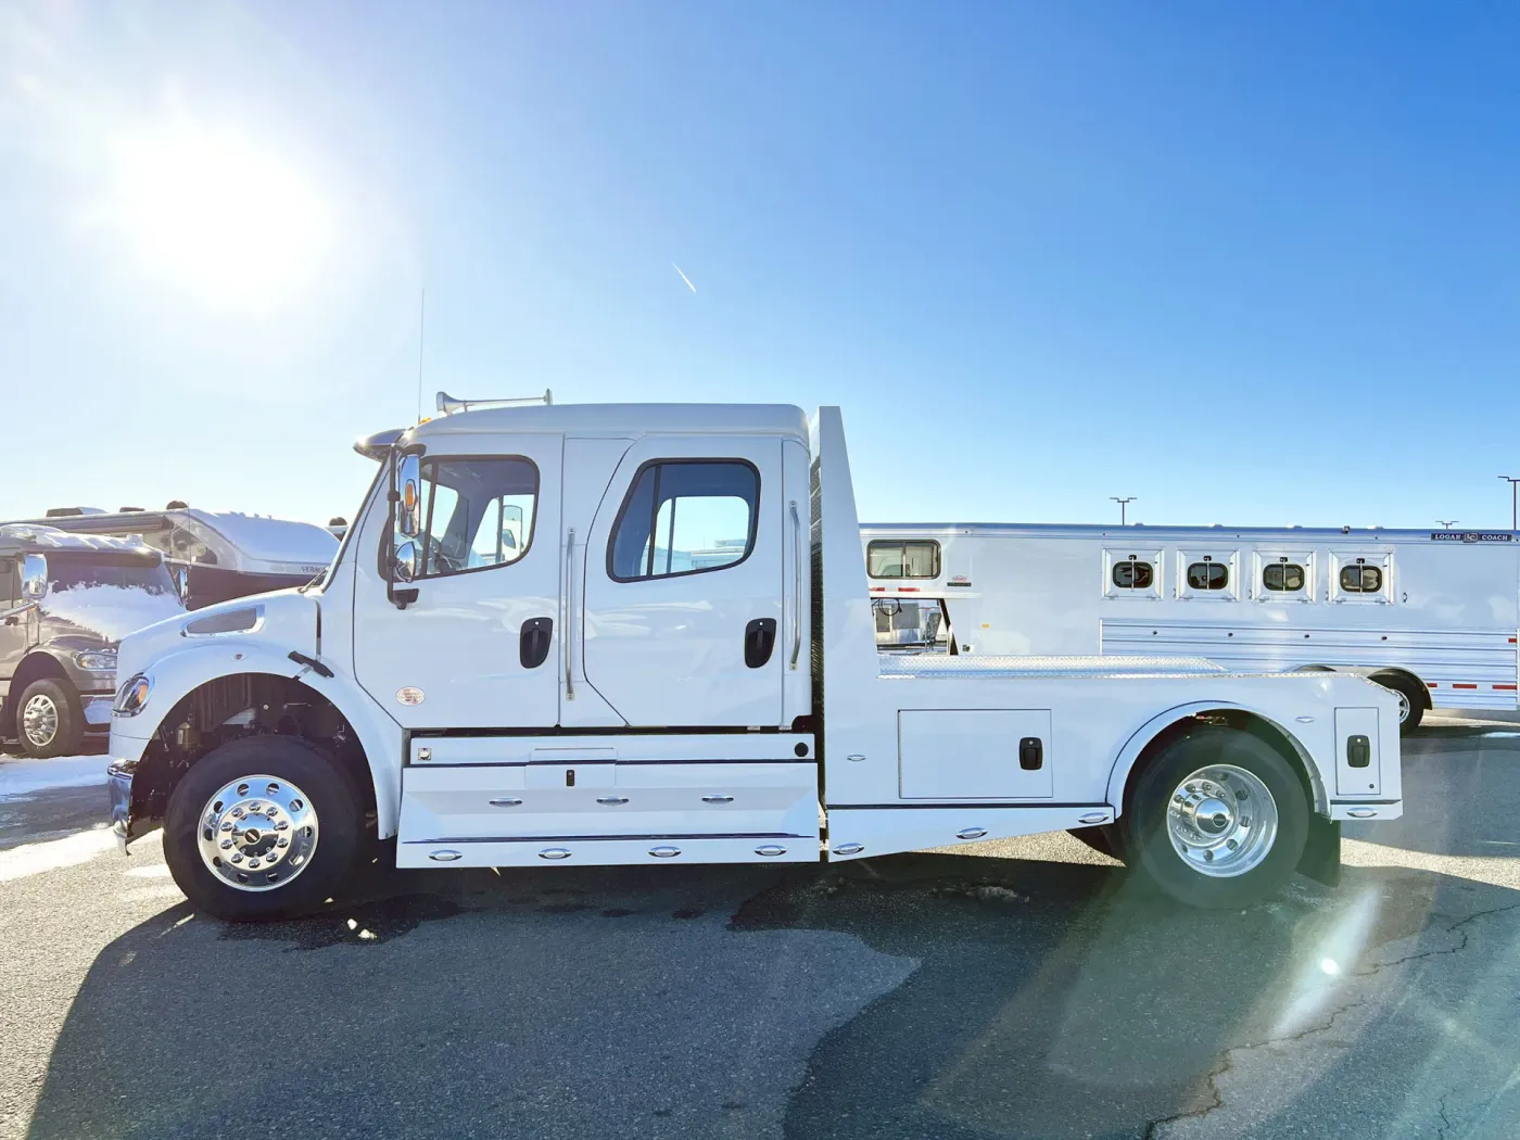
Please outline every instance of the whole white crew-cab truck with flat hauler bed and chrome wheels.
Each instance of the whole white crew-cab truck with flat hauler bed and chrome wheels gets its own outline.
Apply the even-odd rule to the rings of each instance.
[[[116,834],[163,824],[210,914],[315,907],[375,844],[765,863],[1062,828],[1240,906],[1400,815],[1362,678],[880,655],[834,407],[473,406],[360,450],[322,581],[120,648]]]

